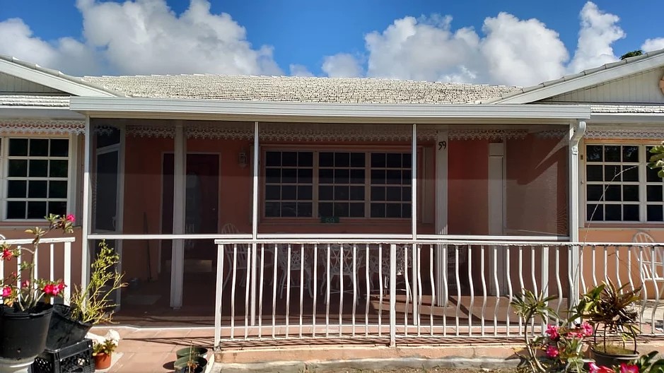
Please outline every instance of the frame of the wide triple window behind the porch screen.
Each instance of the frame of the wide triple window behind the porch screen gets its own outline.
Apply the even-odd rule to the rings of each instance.
[[[279,216],[266,216],[265,215],[265,189],[267,186],[267,179],[264,177],[261,177],[261,182],[260,182],[260,218],[263,222],[274,222],[274,223],[279,223],[279,222],[284,222],[287,220],[298,220],[298,221],[309,221],[309,222],[320,222],[320,217],[318,217],[318,153],[326,153],[326,152],[331,152],[331,153],[364,153],[365,154],[365,199],[363,200],[363,203],[365,204],[365,215],[363,217],[342,217],[341,219],[344,222],[349,222],[349,221],[369,221],[373,220],[376,222],[389,222],[389,221],[394,221],[394,222],[407,222],[412,220],[412,218],[372,218],[371,217],[371,153],[411,153],[412,148],[410,146],[279,146],[279,145],[264,145],[261,146],[261,153],[260,153],[260,172],[261,175],[265,175],[265,168],[266,168],[266,162],[265,162],[265,157],[267,152],[271,151],[277,151],[277,152],[312,152],[313,154],[313,183],[312,183],[312,216],[310,217],[279,217]],[[417,162],[419,162],[418,172],[422,172],[422,162],[424,162],[421,157],[423,153],[423,149],[421,146],[418,146],[417,148],[417,154],[415,157],[417,157]],[[411,169],[412,172],[412,169]],[[418,189],[418,195],[421,196],[421,184],[424,183],[418,183],[417,188]],[[396,184],[395,184],[396,185]],[[400,185],[401,186],[401,185]],[[359,202],[359,201],[358,201]],[[403,202],[400,202],[403,203]],[[417,201],[418,208],[417,208],[417,213],[421,213],[421,206],[422,204],[422,198],[418,198]],[[412,205],[412,201],[411,201]],[[420,217],[418,216],[418,220]]]

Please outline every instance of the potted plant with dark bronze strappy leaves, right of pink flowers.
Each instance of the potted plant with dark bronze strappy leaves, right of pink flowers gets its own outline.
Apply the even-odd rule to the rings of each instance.
[[[581,317],[595,328],[590,357],[597,365],[612,367],[639,357],[639,313],[635,305],[641,288],[628,290],[628,285],[617,288],[611,281],[603,283],[583,295],[576,307],[573,317]]]

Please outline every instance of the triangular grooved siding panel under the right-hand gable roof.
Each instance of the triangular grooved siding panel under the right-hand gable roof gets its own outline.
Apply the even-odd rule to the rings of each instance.
[[[543,102],[663,103],[664,93],[659,88],[663,76],[664,68],[643,71],[615,81],[554,96]]]

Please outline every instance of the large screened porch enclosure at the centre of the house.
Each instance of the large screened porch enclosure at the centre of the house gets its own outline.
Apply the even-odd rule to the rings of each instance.
[[[390,303],[390,261],[404,317],[421,307],[444,319],[449,302],[467,309],[474,297],[507,295],[516,251],[408,240],[569,240],[568,133],[566,124],[91,119],[88,239],[108,239],[122,256],[130,286],[118,294],[120,321],[149,322],[137,321],[148,312],[164,325],[180,309],[214,322],[221,295],[223,322],[292,324],[303,307],[315,310],[305,324],[330,315],[375,324]],[[542,280],[549,259],[522,255],[538,272],[525,285]],[[270,300],[262,309],[259,297]]]

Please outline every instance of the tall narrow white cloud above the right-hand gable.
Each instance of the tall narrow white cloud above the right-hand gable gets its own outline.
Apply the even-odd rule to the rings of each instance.
[[[625,37],[624,31],[617,25],[620,18],[600,11],[590,1],[581,9],[580,17],[578,44],[568,70],[576,73],[617,61],[618,57],[613,54],[611,45]]]

